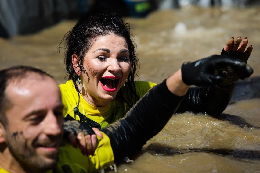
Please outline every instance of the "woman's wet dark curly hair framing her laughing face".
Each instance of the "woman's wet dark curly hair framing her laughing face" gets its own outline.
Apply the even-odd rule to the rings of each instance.
[[[132,101],[134,100],[135,102],[139,100],[134,85],[135,76],[139,70],[139,60],[135,55],[135,46],[131,39],[132,35],[130,34],[130,24],[125,23],[123,18],[114,12],[94,11],[85,14],[81,17],[81,19],[78,20],[76,25],[67,34],[65,34],[61,40],[59,49],[63,48],[66,50],[64,59],[64,63],[66,65],[66,77],[68,80],[72,79],[75,86],[77,86],[76,81],[78,80],[78,75],[73,68],[72,55],[76,54],[79,57],[79,68],[81,72],[85,72],[88,75],[82,66],[85,54],[90,49],[93,41],[95,41],[98,37],[109,35],[111,33],[124,37],[130,52],[129,58],[131,63],[131,70],[125,82],[125,87],[129,92],[128,95],[124,97],[130,101],[130,103],[127,102],[127,104],[132,107]],[[63,42],[65,42],[64,47],[61,46]],[[77,87],[76,90],[78,90]],[[133,98],[133,95],[135,98]]]

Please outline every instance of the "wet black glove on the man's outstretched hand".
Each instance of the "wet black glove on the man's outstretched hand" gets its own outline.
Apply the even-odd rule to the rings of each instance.
[[[238,79],[244,79],[253,73],[253,69],[246,62],[228,55],[212,55],[195,62],[184,62],[181,70],[183,82],[196,86],[235,83],[230,75],[231,70]]]

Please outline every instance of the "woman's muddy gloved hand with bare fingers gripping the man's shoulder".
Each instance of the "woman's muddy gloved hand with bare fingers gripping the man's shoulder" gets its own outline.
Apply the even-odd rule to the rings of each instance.
[[[83,155],[93,154],[96,149],[97,136],[103,138],[99,129],[91,128],[88,123],[77,120],[64,121],[64,136],[77,148],[78,144]]]

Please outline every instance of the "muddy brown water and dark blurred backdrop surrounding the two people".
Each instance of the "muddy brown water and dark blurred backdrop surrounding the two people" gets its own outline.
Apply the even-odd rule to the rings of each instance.
[[[115,10],[132,26],[136,79],[159,83],[184,61],[220,54],[230,37],[248,37],[253,75],[237,82],[218,117],[186,112],[130,157],[127,173],[260,172],[260,2],[258,0],[0,0],[0,69],[30,65],[66,82],[63,36],[79,17]],[[114,172],[106,170],[106,172]]]

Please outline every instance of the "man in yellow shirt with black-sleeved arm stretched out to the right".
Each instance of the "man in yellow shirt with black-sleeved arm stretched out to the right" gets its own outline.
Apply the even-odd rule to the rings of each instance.
[[[239,70],[240,78],[253,73],[244,61],[226,56],[214,55],[200,60],[200,64],[204,65],[200,76],[217,76],[212,74],[214,69],[226,66]],[[200,71],[200,68],[189,65],[189,70]],[[95,152],[86,156],[62,139],[63,104],[54,79],[31,67],[1,70],[0,172],[93,172],[133,154],[164,127],[178,108],[189,88],[182,81],[183,77],[194,83],[213,84],[203,78],[190,80],[178,70],[153,87],[124,118],[102,129],[103,138],[98,137]],[[218,82],[222,82],[219,78]],[[169,87],[169,83],[176,85]],[[74,127],[72,132],[78,132],[85,130],[86,125],[68,120],[64,129],[70,129],[70,126]]]

